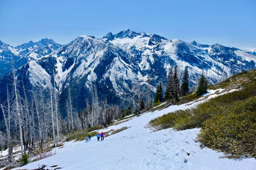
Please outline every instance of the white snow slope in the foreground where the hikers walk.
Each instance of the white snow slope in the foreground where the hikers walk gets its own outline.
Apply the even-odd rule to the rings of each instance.
[[[210,91],[211,94],[213,92]],[[63,169],[256,169],[254,158],[221,159],[219,157],[224,156],[222,152],[201,149],[200,143],[195,142],[200,129],[152,132],[146,128],[152,118],[177,109],[194,107],[198,103],[147,112],[122,124],[110,126],[102,131],[124,126],[130,128],[110,135],[102,142],[98,142],[96,137],[89,143],[66,142],[63,148],[52,151],[56,151],[56,155],[30,163],[22,169],[34,169],[42,164],[48,168],[58,165]]]

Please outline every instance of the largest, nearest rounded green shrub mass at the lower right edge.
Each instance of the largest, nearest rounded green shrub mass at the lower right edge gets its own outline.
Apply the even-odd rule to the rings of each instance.
[[[200,141],[235,155],[256,157],[256,97],[237,101],[205,121]]]

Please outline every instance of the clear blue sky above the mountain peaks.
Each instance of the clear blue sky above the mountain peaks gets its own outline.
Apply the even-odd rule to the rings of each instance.
[[[16,46],[43,38],[67,44],[130,28],[167,39],[256,47],[256,1],[1,0],[0,40]]]

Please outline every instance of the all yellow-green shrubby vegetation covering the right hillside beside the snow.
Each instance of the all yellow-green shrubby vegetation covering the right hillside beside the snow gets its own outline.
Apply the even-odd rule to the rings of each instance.
[[[239,90],[217,96],[196,108],[155,118],[155,130],[201,127],[199,141],[209,148],[232,154],[229,158],[256,158],[256,69],[236,74],[213,88]]]

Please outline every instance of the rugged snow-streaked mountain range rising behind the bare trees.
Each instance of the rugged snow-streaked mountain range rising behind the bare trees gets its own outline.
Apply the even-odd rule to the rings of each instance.
[[[207,74],[209,83],[216,83],[240,71],[253,69],[256,63],[255,55],[237,48],[167,40],[130,29],[116,35],[110,32],[102,39],[80,36],[63,46],[48,39],[39,42],[14,48],[19,56],[30,58],[17,70],[18,79],[23,78],[30,89],[39,85],[49,87],[53,84],[52,69],[55,68],[60,104],[65,103],[69,87],[72,96],[76,96],[73,100],[77,110],[84,108],[84,99],[90,98],[94,83],[100,99],[120,104],[122,100],[118,99],[133,92],[137,83],[150,86],[152,91],[159,82],[166,84],[168,72],[175,65],[181,73],[188,66],[190,86],[195,88],[202,71]],[[46,44],[49,48],[40,50],[41,45],[45,47]],[[0,80],[1,88],[6,87],[8,79],[6,75]]]

